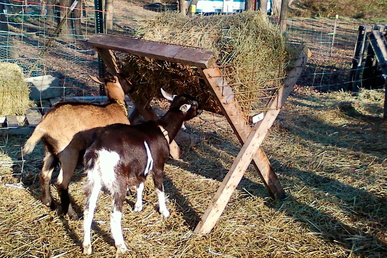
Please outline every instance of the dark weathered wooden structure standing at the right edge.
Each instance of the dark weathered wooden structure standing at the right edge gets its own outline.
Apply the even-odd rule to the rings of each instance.
[[[381,71],[381,72],[380,72]],[[360,25],[349,73],[348,90],[385,85],[387,76],[387,26]],[[387,103],[385,89],[385,103]],[[384,104],[384,119],[387,106]]]

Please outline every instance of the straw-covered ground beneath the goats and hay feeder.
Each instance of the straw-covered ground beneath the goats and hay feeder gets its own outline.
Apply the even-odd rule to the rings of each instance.
[[[380,118],[382,97],[382,91],[352,96],[296,90],[263,144],[287,198],[269,198],[250,166],[214,231],[198,237],[192,230],[240,149],[224,117],[205,111],[187,123],[189,130],[202,134],[202,141],[165,168],[171,217],[158,214],[149,178],[143,212],[134,213],[135,196],[127,196],[123,232],[130,251],[119,256],[385,257],[387,124]],[[2,152],[14,163],[1,171],[0,256],[81,257],[82,220],[63,218],[40,203],[43,148],[39,144],[23,161],[25,140],[0,139]],[[79,214],[84,180],[78,169],[70,184]],[[116,255],[110,207],[110,198],[101,193],[91,257]]]

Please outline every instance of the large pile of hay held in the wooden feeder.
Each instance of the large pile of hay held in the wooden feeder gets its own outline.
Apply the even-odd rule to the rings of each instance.
[[[246,99],[264,94],[248,91],[279,85],[281,81],[273,79],[284,77],[288,65],[289,52],[281,32],[259,12],[192,18],[165,12],[144,22],[136,33],[146,40],[215,51],[217,64],[227,65],[221,67],[223,74],[229,74],[227,82],[238,84],[233,91],[245,92],[236,95],[245,110],[259,106],[259,101],[250,103]],[[132,55],[122,65],[140,94],[159,97],[159,87],[163,87],[175,94],[198,96],[205,110],[220,111],[196,67]]]

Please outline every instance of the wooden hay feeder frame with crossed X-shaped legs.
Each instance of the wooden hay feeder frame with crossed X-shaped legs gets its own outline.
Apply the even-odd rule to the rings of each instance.
[[[195,228],[195,233],[208,234],[215,226],[251,162],[257,173],[259,173],[269,194],[280,200],[285,197],[281,183],[260,145],[276,120],[281,107],[293,89],[298,77],[300,77],[302,70],[305,68],[308,58],[311,56],[308,48],[305,47],[300,52],[296,58],[295,67],[291,70],[283,85],[271,97],[264,111],[263,119],[255,123],[253,128],[251,128],[248,125],[248,119],[245,118],[239,104],[235,100],[231,87],[227,84],[216,64],[214,52],[107,34],[92,36],[89,39],[89,44],[98,51],[98,54],[111,72],[120,72],[113,50],[197,67],[205,84],[211,89],[224,116],[233,128],[236,137],[243,145],[231,169],[223,179],[221,186],[202,216],[201,221]],[[138,113],[145,120],[157,119],[156,113],[148,104],[149,100],[135,94],[130,94],[129,97],[137,108]],[[133,112],[133,114],[135,113],[137,112]],[[130,122],[132,123],[135,119],[136,115],[130,117]],[[170,144],[170,153],[172,157],[178,157],[179,147],[176,145],[176,142]]]

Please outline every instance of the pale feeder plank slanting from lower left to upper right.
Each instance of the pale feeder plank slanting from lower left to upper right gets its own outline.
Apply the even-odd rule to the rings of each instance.
[[[284,86],[279,89],[278,95],[269,103],[269,110],[266,111],[264,119],[260,123],[254,125],[253,130],[246,138],[242,149],[236,156],[231,169],[215,193],[214,198],[195,228],[194,233],[208,234],[215,226],[255,153],[258,152],[267,132],[269,132],[269,129],[276,120],[286,98],[292,91],[298,77],[300,77],[300,74],[307,63],[308,56],[310,56],[310,51],[308,50],[307,53],[304,53],[303,51],[300,53],[300,58],[296,61],[296,67],[285,80]]]

